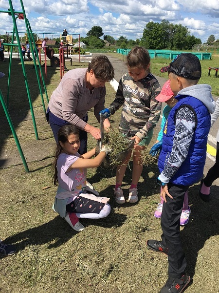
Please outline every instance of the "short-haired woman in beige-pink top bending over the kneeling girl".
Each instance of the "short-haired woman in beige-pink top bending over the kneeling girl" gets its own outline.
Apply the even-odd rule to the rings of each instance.
[[[88,111],[93,108],[100,122],[99,112],[104,109],[106,96],[105,84],[113,78],[114,69],[105,55],[93,57],[88,68],[76,68],[65,73],[52,93],[47,109],[47,121],[56,143],[59,128],[66,124],[80,129],[81,155],[87,152],[88,133],[96,140],[100,139],[100,129],[88,124]],[[104,121],[104,127],[110,127],[108,119]]]

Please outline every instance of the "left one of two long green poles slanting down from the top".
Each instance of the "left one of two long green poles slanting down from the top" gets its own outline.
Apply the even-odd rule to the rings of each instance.
[[[17,27],[17,23],[16,23],[16,18],[15,18],[15,12],[13,10],[12,1],[8,0],[8,2],[9,2],[9,5],[10,5],[10,11],[11,11],[11,16],[12,16],[13,23],[14,23],[16,38],[19,41],[18,27]],[[21,13],[23,13],[23,12],[21,12]],[[21,51],[20,42],[18,42],[18,49],[19,49],[19,53],[20,53],[20,57],[21,57],[22,56],[22,51]],[[29,88],[29,84],[28,84],[28,80],[27,80],[27,73],[26,73],[26,69],[25,69],[25,66],[24,66],[24,60],[23,60],[23,58],[21,58],[20,60],[21,60],[21,65],[22,65],[22,69],[23,69],[24,81],[25,81],[26,89],[27,89],[27,95],[28,95],[28,100],[29,100],[29,105],[30,105],[30,110],[31,110],[34,130],[35,130],[35,136],[36,136],[36,139],[39,139],[38,138],[38,133],[37,133],[37,125],[36,125],[36,120],[35,120],[35,115],[34,115],[34,109],[33,109],[32,101],[31,101],[30,88]]]

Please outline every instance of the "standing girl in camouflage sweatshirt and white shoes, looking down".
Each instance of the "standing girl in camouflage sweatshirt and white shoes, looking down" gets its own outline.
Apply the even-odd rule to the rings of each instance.
[[[138,201],[138,182],[142,174],[141,151],[150,143],[153,128],[160,114],[161,103],[156,100],[161,87],[157,79],[150,73],[150,56],[144,47],[136,46],[127,55],[128,73],[119,82],[116,98],[110,106],[100,113],[106,118],[114,114],[121,106],[122,115],[119,129],[124,136],[134,140],[132,155],[132,182],[129,188],[128,202]],[[121,188],[132,150],[126,159],[116,168],[115,201],[126,202]]]

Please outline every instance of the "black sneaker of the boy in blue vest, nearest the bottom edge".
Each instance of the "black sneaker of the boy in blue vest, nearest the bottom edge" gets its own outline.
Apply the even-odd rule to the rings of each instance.
[[[184,274],[180,279],[168,278],[160,293],[181,293],[190,282],[190,276]]]

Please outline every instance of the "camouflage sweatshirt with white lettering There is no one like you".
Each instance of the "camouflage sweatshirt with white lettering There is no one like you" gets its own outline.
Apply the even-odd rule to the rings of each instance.
[[[155,99],[160,91],[160,84],[151,73],[138,82],[128,73],[121,78],[116,98],[108,108],[114,114],[123,106],[119,126],[122,133],[136,135],[141,140],[147,137],[160,118],[161,103]]]

